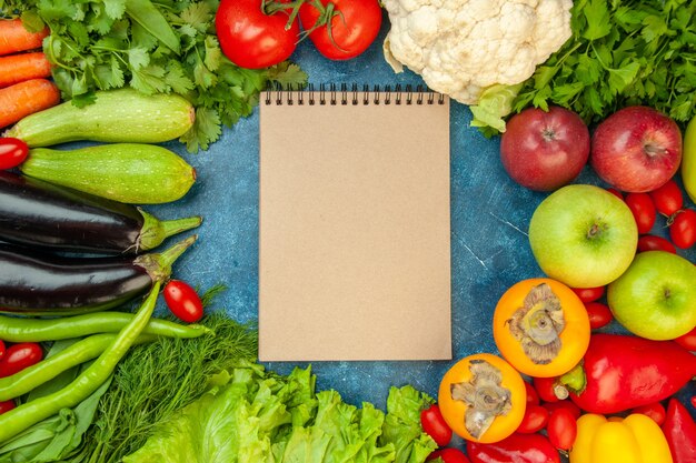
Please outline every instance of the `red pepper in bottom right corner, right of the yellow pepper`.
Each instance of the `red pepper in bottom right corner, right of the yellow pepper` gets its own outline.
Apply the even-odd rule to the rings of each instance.
[[[696,422],[686,406],[674,397],[667,405],[663,433],[674,463],[696,463]]]

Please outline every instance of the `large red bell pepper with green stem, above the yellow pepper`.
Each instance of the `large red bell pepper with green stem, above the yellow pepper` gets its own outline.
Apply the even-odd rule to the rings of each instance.
[[[674,341],[597,333],[560,382],[584,411],[610,414],[665,400],[694,376],[696,355]]]

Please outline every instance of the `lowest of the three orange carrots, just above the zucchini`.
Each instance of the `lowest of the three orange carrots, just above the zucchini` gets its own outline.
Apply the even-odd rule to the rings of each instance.
[[[0,129],[60,102],[60,91],[47,79],[31,79],[0,89]]]

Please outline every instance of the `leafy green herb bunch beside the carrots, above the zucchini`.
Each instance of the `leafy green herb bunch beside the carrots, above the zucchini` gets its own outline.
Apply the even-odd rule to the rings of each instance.
[[[249,70],[222,54],[215,33],[218,0],[0,0],[3,16],[21,16],[31,29],[47,24],[43,50],[64,99],[84,105],[95,91],[132,87],[175,92],[196,107],[196,123],[181,137],[191,152],[208,149],[251,113],[268,84],[302,85],[296,64]]]

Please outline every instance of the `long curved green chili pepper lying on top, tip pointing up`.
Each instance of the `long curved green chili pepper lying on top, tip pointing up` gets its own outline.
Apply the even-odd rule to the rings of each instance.
[[[159,281],[155,282],[136,316],[118,333],[107,350],[74,381],[60,391],[34,399],[1,414],[0,442],[4,442],[41,420],[57,414],[61,409],[76,406],[103,384],[150,320],[159,295],[160,284]]]

